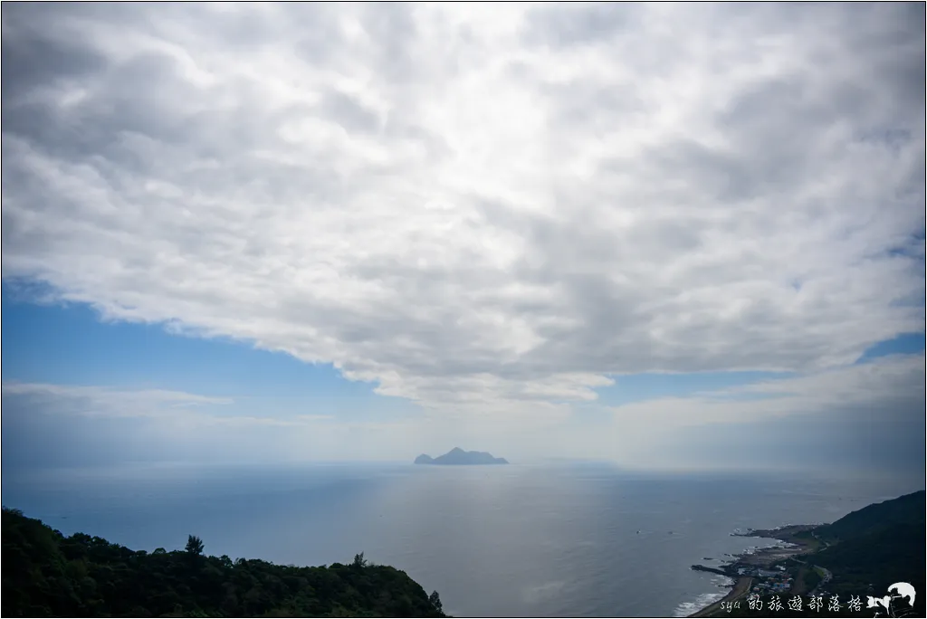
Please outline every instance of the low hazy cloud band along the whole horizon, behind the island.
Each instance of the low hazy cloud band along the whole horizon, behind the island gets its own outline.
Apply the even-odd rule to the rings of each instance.
[[[924,356],[537,420],[487,414],[347,422],[267,401],[72,385],[4,385],[4,464],[410,461],[481,448],[516,462],[575,457],[632,468],[794,469],[923,481]],[[196,403],[196,407],[178,407]],[[255,411],[261,411],[260,416]],[[424,446],[431,446],[425,448]]]

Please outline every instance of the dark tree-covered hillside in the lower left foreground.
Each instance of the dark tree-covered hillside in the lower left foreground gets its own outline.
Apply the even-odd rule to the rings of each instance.
[[[3,509],[5,617],[443,617],[394,567],[368,562],[298,567],[184,550],[130,550],[102,537],[63,536]]]

